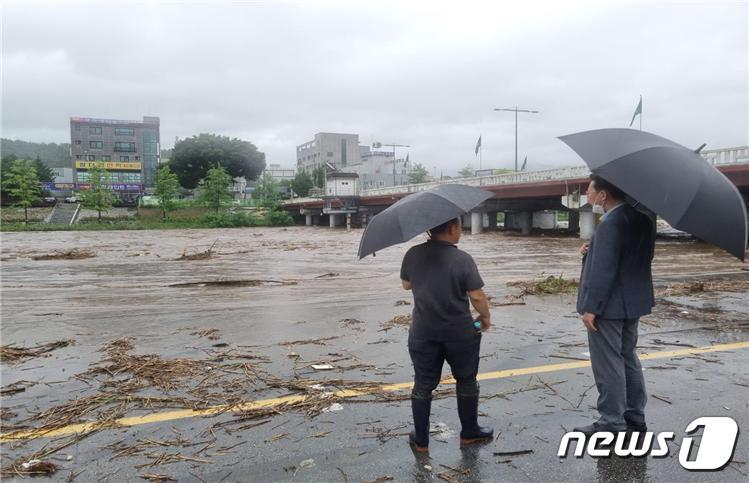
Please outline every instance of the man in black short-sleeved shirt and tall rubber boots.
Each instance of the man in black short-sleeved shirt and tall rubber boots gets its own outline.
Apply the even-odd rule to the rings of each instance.
[[[412,247],[403,257],[401,282],[414,296],[408,352],[414,366],[411,408],[414,430],[411,445],[419,452],[429,448],[429,413],[445,360],[456,381],[461,444],[491,440],[494,431],[478,425],[481,332],[473,325],[470,300],[479,313],[481,331],[491,327],[483,280],[473,258],[455,245],[462,232],[460,218],[429,230],[426,243]]]

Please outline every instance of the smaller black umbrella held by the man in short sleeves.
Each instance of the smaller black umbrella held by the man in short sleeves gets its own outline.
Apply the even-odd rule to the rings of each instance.
[[[493,193],[459,184],[443,184],[397,201],[372,217],[359,242],[359,258],[398,243],[457,218]]]

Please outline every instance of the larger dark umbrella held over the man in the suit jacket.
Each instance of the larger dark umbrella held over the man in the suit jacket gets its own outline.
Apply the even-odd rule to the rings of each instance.
[[[559,139],[579,154],[594,174],[674,228],[744,260],[744,199],[736,186],[698,152],[634,129],[597,129]]]

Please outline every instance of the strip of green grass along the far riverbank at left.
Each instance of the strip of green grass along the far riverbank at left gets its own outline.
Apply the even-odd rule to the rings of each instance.
[[[253,226],[288,226],[293,225],[291,216],[282,211],[269,211],[263,215],[249,213],[206,214],[200,218],[166,220],[160,218],[103,218],[86,219],[73,225],[4,222],[0,226],[3,232],[18,231],[101,231],[101,230],[174,230],[185,228],[241,228]]]

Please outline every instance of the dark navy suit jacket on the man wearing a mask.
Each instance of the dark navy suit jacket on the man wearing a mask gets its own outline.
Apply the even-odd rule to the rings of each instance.
[[[578,313],[634,319],[651,312],[655,234],[651,219],[628,204],[604,216],[583,257]]]

